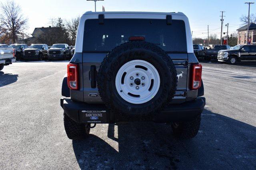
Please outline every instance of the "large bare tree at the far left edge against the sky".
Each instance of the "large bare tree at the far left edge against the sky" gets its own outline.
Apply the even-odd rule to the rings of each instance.
[[[0,10],[2,14],[0,15],[0,23],[4,29],[6,29],[6,34],[12,43],[16,42],[16,39],[22,35],[27,23],[27,19],[24,19],[21,13],[21,8],[14,1],[7,0],[6,3],[0,3]]]

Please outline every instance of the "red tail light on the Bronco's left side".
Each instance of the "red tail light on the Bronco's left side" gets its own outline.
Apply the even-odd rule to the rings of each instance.
[[[68,64],[68,87],[71,90],[78,89],[78,65]]]

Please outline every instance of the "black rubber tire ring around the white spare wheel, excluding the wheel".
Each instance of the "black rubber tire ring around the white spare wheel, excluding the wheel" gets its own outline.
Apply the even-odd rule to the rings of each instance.
[[[144,60],[152,64],[160,76],[160,88],[150,101],[132,104],[116,90],[116,74],[129,61]],[[114,48],[102,61],[98,71],[98,89],[102,101],[114,113],[126,117],[149,117],[157,113],[174,97],[177,72],[174,63],[160,47],[145,41],[130,41]]]

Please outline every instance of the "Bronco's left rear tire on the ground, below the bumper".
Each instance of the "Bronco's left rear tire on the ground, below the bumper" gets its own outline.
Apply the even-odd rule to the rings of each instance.
[[[81,140],[88,137],[88,134],[90,133],[90,124],[89,123],[76,123],[66,113],[63,113],[64,115],[64,128],[66,131],[66,134],[69,139],[72,140]]]

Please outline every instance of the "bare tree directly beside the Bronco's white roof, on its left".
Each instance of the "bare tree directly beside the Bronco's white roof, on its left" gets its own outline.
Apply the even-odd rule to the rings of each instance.
[[[80,17],[78,16],[77,18],[72,18],[70,21],[66,21],[66,29],[68,31],[71,45],[75,45],[76,43],[76,33],[79,25],[79,19]]]

